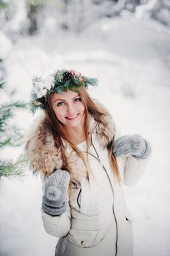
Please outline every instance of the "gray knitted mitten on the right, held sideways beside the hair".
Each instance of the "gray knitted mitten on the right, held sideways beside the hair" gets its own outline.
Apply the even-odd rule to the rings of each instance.
[[[113,141],[112,152],[115,157],[131,154],[136,159],[146,159],[151,154],[151,146],[141,135],[124,135]]]

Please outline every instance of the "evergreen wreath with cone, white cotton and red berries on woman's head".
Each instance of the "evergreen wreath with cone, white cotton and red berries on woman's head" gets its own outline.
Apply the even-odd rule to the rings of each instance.
[[[47,78],[34,77],[32,79],[33,89],[31,91],[31,112],[34,114],[37,109],[45,109],[45,102],[48,95],[53,92],[61,94],[63,91],[77,91],[78,88],[84,86],[97,86],[98,80],[96,78],[87,78],[80,72],[75,70],[57,70]]]

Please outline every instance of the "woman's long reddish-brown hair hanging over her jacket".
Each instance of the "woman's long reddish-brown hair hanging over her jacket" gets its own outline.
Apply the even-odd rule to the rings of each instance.
[[[77,92],[80,95],[82,104],[85,107],[85,121],[83,126],[83,132],[85,135],[85,141],[87,145],[87,154],[86,154],[87,159],[83,157],[81,151],[77,148],[77,146],[75,146],[74,143],[72,143],[72,141],[69,140],[68,136],[66,135],[66,131],[63,128],[63,125],[61,124],[61,121],[59,121],[58,118],[55,116],[55,113],[52,107],[53,94],[50,94],[49,97],[47,98],[47,102],[45,105],[45,113],[47,116],[47,125],[53,134],[55,146],[56,148],[61,149],[61,157],[63,160],[62,169],[69,171],[69,164],[66,159],[66,154],[64,152],[64,146],[63,146],[63,140],[64,140],[66,143],[69,143],[69,146],[71,146],[72,149],[79,155],[79,157],[81,157],[82,161],[85,164],[85,167],[88,173],[88,178],[89,178],[90,166],[88,162],[88,149],[89,149],[88,115],[89,114],[92,115],[97,122],[101,122],[101,116],[109,115],[109,113],[107,113],[107,110],[105,110],[105,108],[103,108],[101,105],[97,105],[93,101],[93,99],[88,94],[88,91],[84,87],[80,87]],[[107,149],[108,149],[108,156],[109,156],[109,164],[112,169],[112,173],[117,178],[117,181],[120,182],[121,179],[120,179],[120,173],[117,166],[117,162],[115,157],[112,154],[112,143],[109,143],[109,145],[107,146]],[[72,181],[72,176],[71,176],[71,181]]]

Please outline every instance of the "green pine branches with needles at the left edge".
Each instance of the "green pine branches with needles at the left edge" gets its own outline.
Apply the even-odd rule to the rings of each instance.
[[[0,91],[4,89],[4,82],[0,82]],[[25,109],[26,103],[16,101],[0,105],[0,150],[7,146],[20,146],[23,130],[12,124],[15,110]],[[28,167],[26,155],[21,154],[17,160],[0,158],[0,179],[24,176],[23,170]]]

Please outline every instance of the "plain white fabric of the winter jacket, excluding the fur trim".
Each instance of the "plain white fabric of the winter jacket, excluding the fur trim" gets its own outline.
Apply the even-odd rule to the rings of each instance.
[[[85,152],[86,143],[78,147]],[[55,256],[132,256],[134,219],[125,206],[123,185],[112,175],[107,148],[100,146],[95,132],[91,132],[89,162],[90,181],[83,179],[81,186],[72,187],[70,210],[60,217],[42,211],[46,232],[60,238]],[[147,162],[131,156],[117,158],[123,183],[134,185]]]

